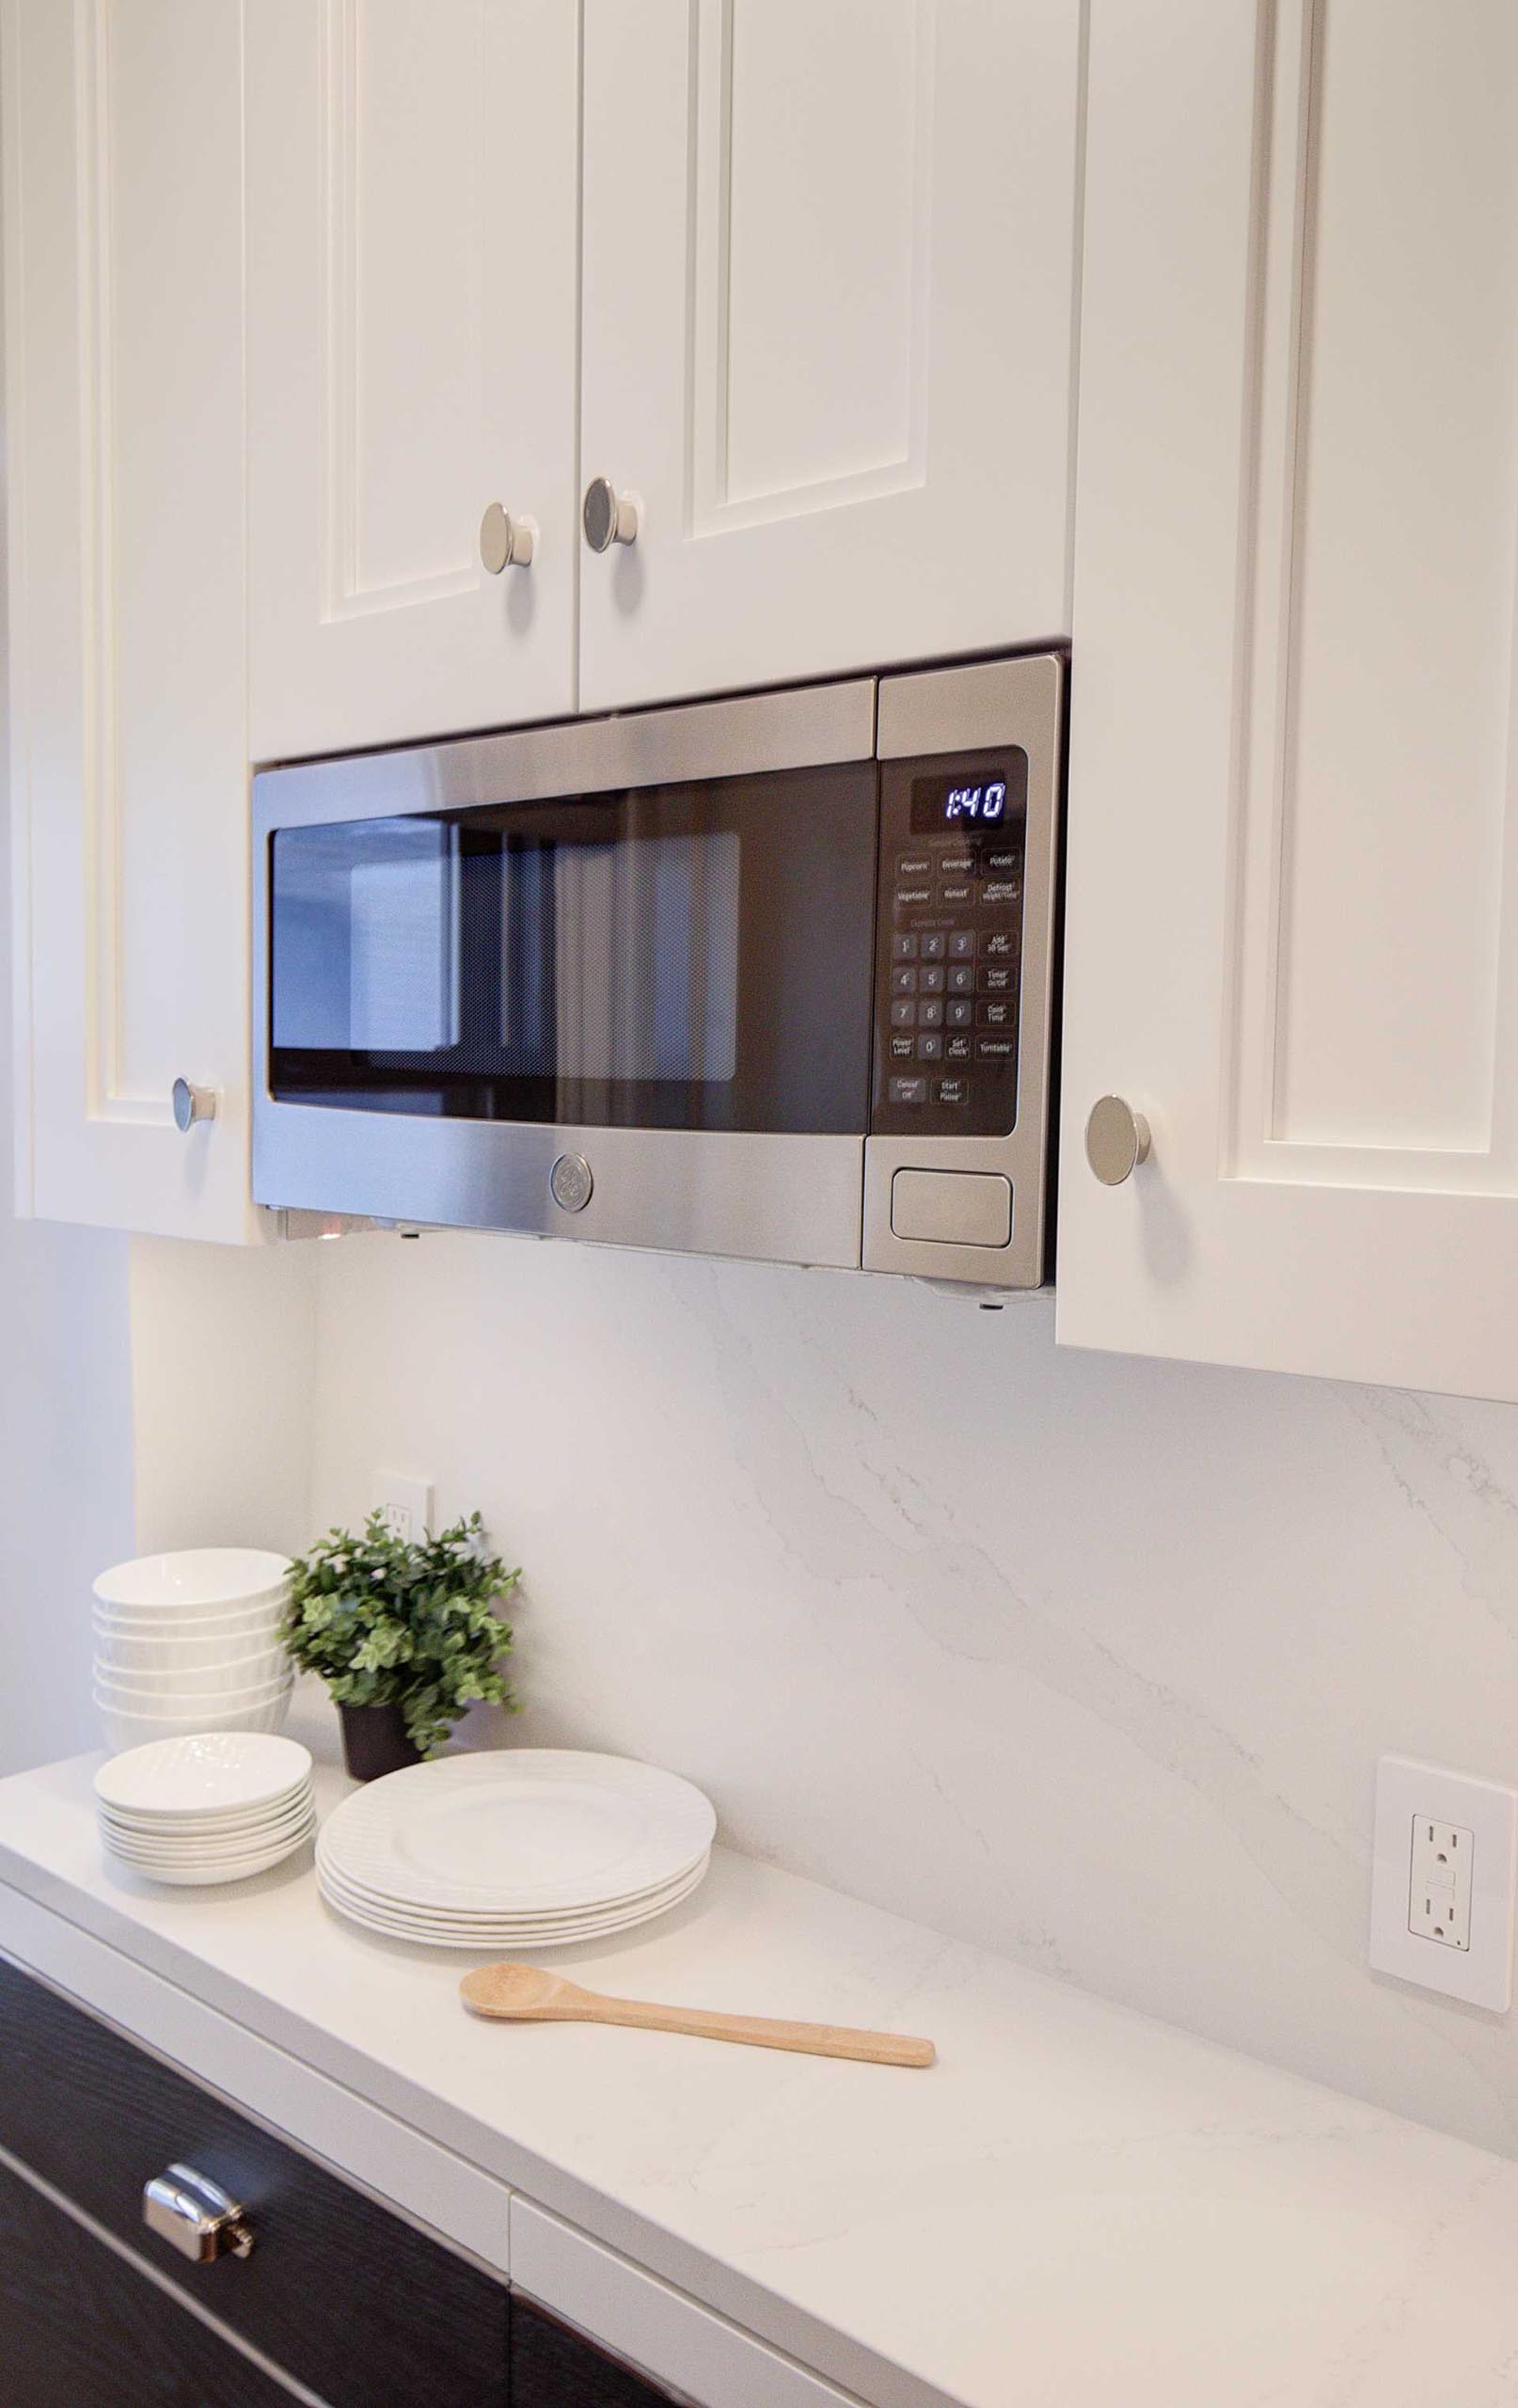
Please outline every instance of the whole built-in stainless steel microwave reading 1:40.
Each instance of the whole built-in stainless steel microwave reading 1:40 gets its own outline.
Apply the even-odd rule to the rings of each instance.
[[[1048,1264],[1065,662],[265,768],[260,1204]]]

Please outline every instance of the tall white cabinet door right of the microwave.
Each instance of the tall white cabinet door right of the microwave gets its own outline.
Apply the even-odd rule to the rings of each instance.
[[[1092,7],[1060,1336],[1518,1397],[1518,10],[1161,14]]]

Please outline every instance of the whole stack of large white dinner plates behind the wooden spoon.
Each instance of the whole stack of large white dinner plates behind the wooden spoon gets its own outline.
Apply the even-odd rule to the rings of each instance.
[[[320,1893],[390,1938],[484,1953],[602,1938],[679,1905],[716,1813],[626,1755],[443,1755],[359,1789],[316,1842]]]

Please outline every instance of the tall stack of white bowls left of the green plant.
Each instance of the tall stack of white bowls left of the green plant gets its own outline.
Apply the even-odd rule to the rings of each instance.
[[[94,1584],[94,1702],[113,1748],[186,1731],[277,1731],[294,1664],[289,1563],[253,1546],[140,1556]]]

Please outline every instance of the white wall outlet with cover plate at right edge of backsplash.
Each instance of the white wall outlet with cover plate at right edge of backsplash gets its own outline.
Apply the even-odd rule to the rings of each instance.
[[[1371,1965],[1470,2006],[1513,1999],[1518,1789],[1410,1755],[1376,1770]]]

